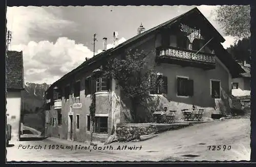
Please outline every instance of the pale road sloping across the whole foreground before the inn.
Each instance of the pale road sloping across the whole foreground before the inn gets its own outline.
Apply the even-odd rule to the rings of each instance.
[[[117,150],[94,150],[87,143],[70,142],[52,137],[42,141],[10,141],[10,146],[7,148],[7,161],[249,160],[249,135],[249,119],[230,119],[166,131],[143,142],[111,144],[113,149]],[[41,149],[37,147],[30,149],[28,145],[30,148],[40,145]],[[75,145],[81,145],[80,149],[78,146],[75,149]],[[213,145],[220,145],[221,150],[217,150],[218,148],[212,150]],[[224,145],[226,145],[225,151]],[[71,150],[69,146],[73,146],[73,149]],[[90,149],[86,150],[85,147],[89,146]],[[98,148],[100,146],[98,145]],[[120,149],[123,148],[122,146],[127,147],[125,150],[118,150],[119,146]],[[141,149],[139,149],[140,146],[142,146]],[[211,150],[208,150],[208,146],[211,146]],[[228,146],[231,147],[229,150]],[[137,148],[137,150],[128,150],[128,147]],[[182,156],[188,154],[199,156]]]

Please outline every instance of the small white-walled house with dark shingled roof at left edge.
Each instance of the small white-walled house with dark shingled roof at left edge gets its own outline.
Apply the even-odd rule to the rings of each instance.
[[[7,51],[6,58],[6,114],[12,128],[12,139],[19,140],[22,90],[24,85],[23,52]]]

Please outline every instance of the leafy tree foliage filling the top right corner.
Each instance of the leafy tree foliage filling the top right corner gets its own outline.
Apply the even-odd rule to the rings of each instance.
[[[250,6],[224,5],[218,7],[216,13],[216,20],[226,35],[236,39],[250,36]]]

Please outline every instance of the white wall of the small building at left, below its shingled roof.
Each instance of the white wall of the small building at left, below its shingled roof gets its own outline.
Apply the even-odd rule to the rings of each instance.
[[[7,116],[7,124],[12,126],[12,140],[18,139],[21,99],[20,92],[7,92],[6,114],[9,114],[9,116]]]

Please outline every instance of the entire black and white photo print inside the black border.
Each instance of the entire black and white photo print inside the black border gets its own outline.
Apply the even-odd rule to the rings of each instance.
[[[6,163],[249,161],[249,5],[14,6]]]

